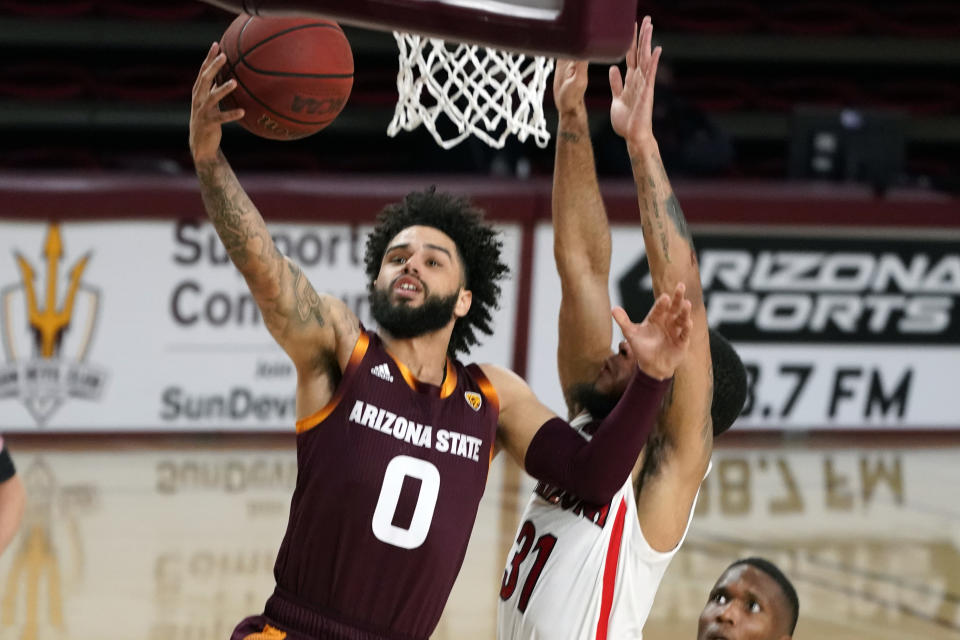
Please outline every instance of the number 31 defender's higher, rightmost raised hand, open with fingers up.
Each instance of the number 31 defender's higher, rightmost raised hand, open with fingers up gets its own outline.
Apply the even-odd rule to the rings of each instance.
[[[627,75],[621,78],[617,66],[610,67],[610,123],[627,144],[653,137],[653,86],[662,48],[650,49],[653,24],[646,16],[638,30],[634,27],[633,45],[627,51]]]

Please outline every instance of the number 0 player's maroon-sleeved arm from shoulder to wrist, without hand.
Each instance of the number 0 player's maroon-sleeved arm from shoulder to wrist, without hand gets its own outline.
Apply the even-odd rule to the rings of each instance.
[[[500,396],[500,432],[514,459],[538,480],[601,504],[630,476],[668,386],[638,369],[616,408],[587,442],[515,374],[491,365],[483,368]]]

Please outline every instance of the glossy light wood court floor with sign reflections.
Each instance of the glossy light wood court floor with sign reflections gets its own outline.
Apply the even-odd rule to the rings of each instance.
[[[296,479],[292,435],[6,440],[29,508],[0,558],[0,640],[226,640],[261,610]],[[960,637],[960,440],[717,444],[646,638],[695,638],[714,579],[745,555],[794,580],[795,638]],[[494,463],[438,640],[495,636],[531,486]]]

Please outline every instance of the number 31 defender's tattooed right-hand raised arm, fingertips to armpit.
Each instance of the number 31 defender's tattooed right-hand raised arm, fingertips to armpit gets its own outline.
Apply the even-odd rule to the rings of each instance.
[[[651,47],[652,34],[653,26],[646,17],[627,52],[626,77],[621,77],[617,67],[610,68],[610,119],[630,153],[654,294],[683,283],[692,303],[690,353],[677,369],[664,405],[664,441],[657,443],[658,450],[647,452],[644,468],[635,470],[642,484],[637,514],[644,536],[654,549],[667,551],[676,546],[686,529],[690,507],[709,464],[713,368],[693,239],[653,136],[654,82],[662,50]]]

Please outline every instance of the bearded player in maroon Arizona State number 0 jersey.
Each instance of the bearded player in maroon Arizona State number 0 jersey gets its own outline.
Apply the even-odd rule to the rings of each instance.
[[[382,337],[318,294],[274,245],[220,150],[234,81],[212,45],[193,89],[190,149],[204,206],[264,323],[297,370],[298,477],[264,614],[233,639],[429,637],[466,551],[490,460],[610,499],[653,427],[689,343],[684,287],[640,324],[614,312],[637,365],[585,443],[510,371],[453,359],[490,333],[500,242],[465,201],[432,190],[387,207],[367,242]]]

